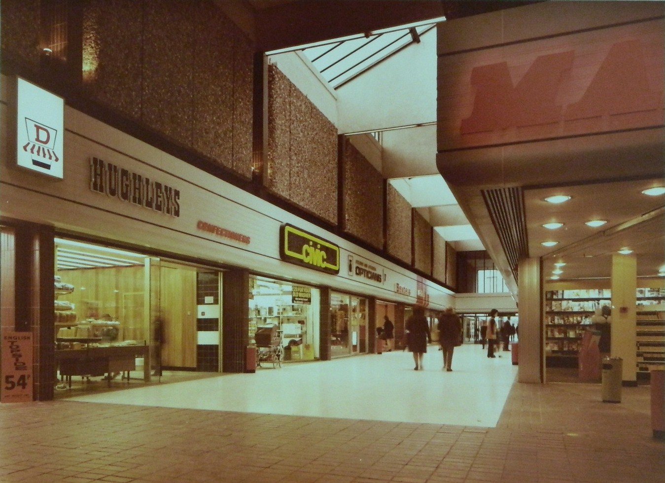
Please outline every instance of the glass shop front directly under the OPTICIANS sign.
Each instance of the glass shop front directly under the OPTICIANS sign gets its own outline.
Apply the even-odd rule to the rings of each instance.
[[[331,293],[331,357],[367,352],[367,299]]]

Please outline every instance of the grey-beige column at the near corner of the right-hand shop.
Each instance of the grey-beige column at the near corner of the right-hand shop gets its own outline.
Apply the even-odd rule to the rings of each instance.
[[[517,308],[519,310],[520,383],[545,382],[545,346],[543,331],[543,280],[541,261],[525,258],[519,261]]]

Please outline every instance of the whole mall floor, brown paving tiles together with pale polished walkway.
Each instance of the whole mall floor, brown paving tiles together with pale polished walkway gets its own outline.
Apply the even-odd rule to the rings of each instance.
[[[512,383],[503,404],[503,375],[513,381],[515,374],[503,356],[489,360],[479,347],[462,347],[456,371],[445,373],[437,351],[428,353],[425,371],[413,370],[408,353],[387,353],[196,381],[219,381],[212,391],[174,383],[156,395],[148,387],[91,396],[96,403],[78,397],[3,404],[0,481],[665,481],[665,443],[652,438],[648,386],[623,388],[622,402],[608,404],[600,402],[597,384]],[[327,381],[317,380],[323,375]],[[269,385],[270,376],[281,382]],[[239,387],[235,379],[251,398],[233,393]],[[326,385],[332,390],[317,391]],[[312,388],[304,402],[296,401],[298,386]],[[374,396],[358,402],[350,391],[360,386]],[[384,386],[390,391],[384,393]],[[146,395],[138,397],[139,392]],[[169,401],[160,401],[168,393],[184,395],[179,399],[194,408],[169,407]],[[120,395],[127,401],[102,402]],[[254,402],[257,395],[261,403]],[[441,398],[449,402],[442,404]],[[142,401],[129,404],[130,399]],[[209,408],[218,399],[236,406]],[[284,400],[297,408],[293,414],[279,414],[287,412]],[[483,400],[492,403],[477,402]],[[274,412],[269,401],[277,401]],[[474,402],[467,406],[467,401]],[[255,412],[239,412],[242,404]],[[341,416],[343,410],[297,414],[308,406],[352,410],[358,404],[379,411],[388,407],[392,418]],[[442,422],[414,421],[418,411],[430,414],[424,417],[459,412],[463,421],[479,408],[489,420],[491,410],[484,411],[494,404],[501,404],[500,416],[487,426],[452,424],[450,414],[442,415]]]

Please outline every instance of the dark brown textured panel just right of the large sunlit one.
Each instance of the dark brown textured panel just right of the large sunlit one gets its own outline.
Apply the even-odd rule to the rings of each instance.
[[[350,142],[344,143],[344,231],[383,247],[383,177]]]

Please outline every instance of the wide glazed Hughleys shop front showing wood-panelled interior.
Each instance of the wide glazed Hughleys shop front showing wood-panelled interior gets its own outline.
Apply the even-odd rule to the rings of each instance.
[[[56,395],[219,372],[221,274],[55,240]]]

